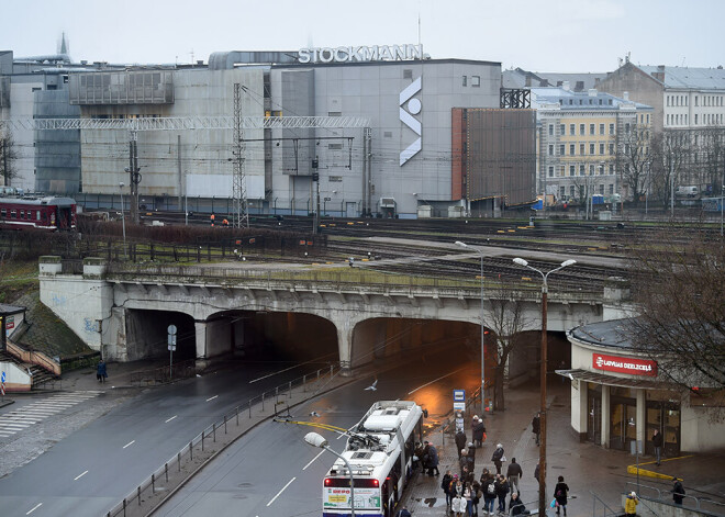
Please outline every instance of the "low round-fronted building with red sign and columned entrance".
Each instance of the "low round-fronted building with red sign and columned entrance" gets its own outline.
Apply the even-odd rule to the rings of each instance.
[[[712,418],[722,413],[722,396],[670,382],[657,358],[632,347],[626,321],[581,325],[567,337],[571,369],[557,373],[571,380],[571,428],[581,441],[629,451],[637,440],[652,454],[657,429],[669,457],[725,447],[725,423]]]

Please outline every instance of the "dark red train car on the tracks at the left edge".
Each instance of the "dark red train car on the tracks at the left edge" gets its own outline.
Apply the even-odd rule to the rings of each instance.
[[[76,201],[70,198],[0,198],[0,228],[76,229]]]

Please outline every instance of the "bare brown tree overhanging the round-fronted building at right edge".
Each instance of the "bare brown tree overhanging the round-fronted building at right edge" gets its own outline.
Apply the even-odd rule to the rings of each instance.
[[[725,389],[725,247],[692,228],[669,228],[631,251],[633,346],[688,390]]]

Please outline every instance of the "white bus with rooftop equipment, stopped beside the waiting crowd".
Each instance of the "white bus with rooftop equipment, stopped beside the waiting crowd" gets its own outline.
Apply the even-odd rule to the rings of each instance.
[[[414,402],[376,402],[349,429],[342,456],[353,470],[356,516],[394,515],[412,474],[415,442],[423,440],[426,413]],[[323,481],[322,515],[350,515],[350,473],[342,459]]]

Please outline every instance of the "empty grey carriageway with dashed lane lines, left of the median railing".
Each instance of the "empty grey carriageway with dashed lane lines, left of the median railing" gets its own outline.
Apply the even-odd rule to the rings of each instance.
[[[294,368],[268,376],[272,372],[259,363],[145,390],[2,477],[0,513],[105,514],[227,411],[304,373]]]

